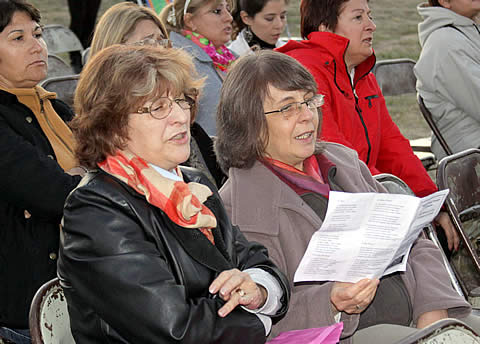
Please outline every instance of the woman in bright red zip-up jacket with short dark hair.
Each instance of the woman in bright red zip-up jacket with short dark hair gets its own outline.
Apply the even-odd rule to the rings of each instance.
[[[392,121],[375,76],[373,33],[376,26],[368,0],[302,0],[301,34],[277,50],[292,56],[313,74],[318,93],[325,95],[321,139],[355,149],[373,175],[391,173],[419,197],[437,187],[408,140]],[[449,249],[459,239],[448,215],[438,223]]]

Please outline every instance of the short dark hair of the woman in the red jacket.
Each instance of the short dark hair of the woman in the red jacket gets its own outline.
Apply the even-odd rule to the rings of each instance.
[[[335,30],[344,3],[350,0],[302,0],[300,3],[300,34],[307,39],[320,25]],[[368,0],[367,0],[368,1]]]

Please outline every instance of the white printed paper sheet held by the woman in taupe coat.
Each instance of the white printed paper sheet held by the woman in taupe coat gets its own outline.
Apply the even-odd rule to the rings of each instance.
[[[330,192],[325,220],[310,239],[294,282],[355,283],[405,271],[412,244],[447,194]]]

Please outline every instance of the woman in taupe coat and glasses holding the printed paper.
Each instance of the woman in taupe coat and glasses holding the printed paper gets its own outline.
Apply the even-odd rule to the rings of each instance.
[[[347,342],[364,329],[366,343],[392,343],[413,331],[411,323],[423,328],[447,316],[469,316],[440,250],[426,239],[415,242],[405,272],[357,283],[293,284],[330,190],[386,192],[354,150],[317,141],[323,104],[317,93],[314,78],[296,60],[263,50],[233,65],[220,95],[215,148],[229,172],[220,196],[232,223],[268,248],[292,287],[289,311],[272,335],[341,320]],[[377,324],[402,326],[372,328]]]

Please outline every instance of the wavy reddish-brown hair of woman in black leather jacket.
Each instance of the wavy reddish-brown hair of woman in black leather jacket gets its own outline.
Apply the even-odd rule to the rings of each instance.
[[[178,49],[112,45],[97,53],[82,71],[75,92],[77,116],[70,122],[80,165],[97,164],[128,141],[129,114],[168,92],[197,98],[203,80],[194,78],[190,56]],[[195,120],[196,105],[191,109]]]

